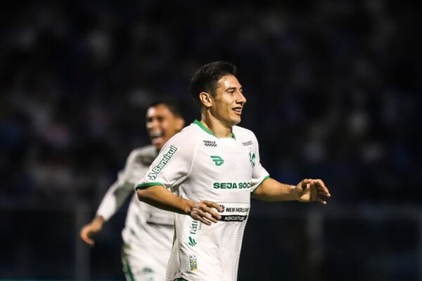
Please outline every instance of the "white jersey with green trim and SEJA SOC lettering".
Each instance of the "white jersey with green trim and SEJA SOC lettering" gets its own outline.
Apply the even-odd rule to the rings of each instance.
[[[268,176],[254,133],[239,126],[232,138],[217,138],[196,120],[166,143],[136,188],[164,185],[180,197],[224,209],[222,221],[212,226],[175,215],[167,280],[237,279],[250,192]]]

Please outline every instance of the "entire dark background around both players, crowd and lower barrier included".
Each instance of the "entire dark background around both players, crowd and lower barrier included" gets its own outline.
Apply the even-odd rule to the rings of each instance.
[[[189,82],[213,60],[238,66],[248,98],[241,126],[257,135],[271,176],[323,178],[333,195],[328,207],[253,202],[239,280],[422,277],[418,8],[381,0],[2,6],[0,277],[123,278],[124,209],[94,249],[77,231],[129,151],[148,143],[149,103],[171,96],[188,123],[199,117]],[[316,228],[312,214],[321,215]],[[77,253],[90,270],[80,273]]]

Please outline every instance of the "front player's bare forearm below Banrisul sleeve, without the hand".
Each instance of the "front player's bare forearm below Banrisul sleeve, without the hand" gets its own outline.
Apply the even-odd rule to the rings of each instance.
[[[179,214],[190,214],[193,206],[192,201],[174,195],[161,185],[136,190],[136,194],[138,199],[146,204]]]

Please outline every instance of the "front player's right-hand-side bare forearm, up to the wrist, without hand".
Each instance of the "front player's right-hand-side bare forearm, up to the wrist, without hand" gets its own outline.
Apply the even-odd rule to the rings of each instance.
[[[268,178],[252,193],[252,198],[263,201],[294,201],[298,200],[295,185],[287,185]]]

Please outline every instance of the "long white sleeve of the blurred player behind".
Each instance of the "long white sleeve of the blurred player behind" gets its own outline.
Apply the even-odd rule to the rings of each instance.
[[[108,188],[106,195],[101,200],[96,215],[102,216],[105,221],[108,221],[122,207],[127,197],[133,194],[136,182],[145,174],[147,167],[136,162],[136,157],[136,151],[129,154],[124,169],[119,172],[117,181]]]

